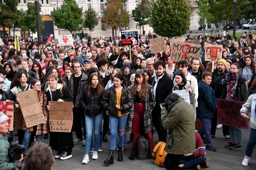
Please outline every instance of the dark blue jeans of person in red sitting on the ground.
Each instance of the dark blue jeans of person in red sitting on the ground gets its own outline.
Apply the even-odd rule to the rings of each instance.
[[[184,164],[185,169],[192,169],[197,165],[204,163],[205,158],[201,155],[199,157],[194,158],[192,155],[187,157],[182,156],[180,159],[180,164]]]

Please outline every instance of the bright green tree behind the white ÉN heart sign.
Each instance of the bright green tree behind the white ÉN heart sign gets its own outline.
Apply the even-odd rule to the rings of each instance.
[[[58,28],[68,30],[71,34],[73,31],[80,31],[82,29],[82,15],[83,9],[79,8],[75,0],[64,0],[60,8],[53,8],[51,12],[54,25]]]

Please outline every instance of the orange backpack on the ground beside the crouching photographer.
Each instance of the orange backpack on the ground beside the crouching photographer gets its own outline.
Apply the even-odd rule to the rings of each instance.
[[[166,167],[165,166],[165,157],[167,152],[164,151],[165,143],[158,142],[157,146],[155,146],[154,150],[152,151],[152,157],[154,160],[154,164],[158,165],[159,167]]]

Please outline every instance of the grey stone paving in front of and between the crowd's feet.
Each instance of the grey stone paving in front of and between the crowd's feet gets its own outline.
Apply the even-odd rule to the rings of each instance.
[[[75,132],[73,132],[73,138],[76,139]],[[110,138],[110,135],[107,135]],[[217,152],[206,151],[207,165],[209,168],[207,170],[256,170],[256,153],[252,155],[252,160],[249,162],[249,166],[245,167],[241,165],[244,159],[246,144],[249,138],[249,130],[242,130],[242,143],[241,150],[230,150],[224,148],[227,143],[222,136],[222,128],[216,130],[216,137],[212,139],[214,147],[217,148]],[[127,137],[128,139],[128,137]],[[18,140],[15,137],[15,140]],[[44,142],[49,144],[49,139]],[[157,133],[154,133],[154,146],[158,142]],[[131,151],[131,144],[127,144],[125,150],[123,151],[123,162],[117,161],[117,152],[114,152],[114,164],[104,165],[104,160],[108,157],[108,146],[109,142],[103,142],[103,152],[98,152],[98,159],[92,160],[91,155],[90,162],[87,165],[82,165],[84,147],[82,144],[76,144],[73,148],[71,159],[61,161],[60,159],[55,159],[54,170],[165,170],[165,168],[158,167],[154,165],[152,159],[139,160],[138,158],[131,161],[128,159]]]

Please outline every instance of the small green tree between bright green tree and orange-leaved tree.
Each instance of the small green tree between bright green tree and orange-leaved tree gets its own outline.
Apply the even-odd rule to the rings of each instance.
[[[93,30],[99,23],[98,13],[93,8],[89,8],[84,12],[83,27]]]

